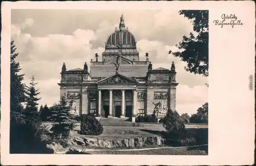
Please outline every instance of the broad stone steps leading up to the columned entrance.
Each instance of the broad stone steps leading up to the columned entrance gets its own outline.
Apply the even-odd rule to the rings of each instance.
[[[103,118],[99,119],[99,122],[103,126],[133,126],[134,123],[131,122],[129,118]]]

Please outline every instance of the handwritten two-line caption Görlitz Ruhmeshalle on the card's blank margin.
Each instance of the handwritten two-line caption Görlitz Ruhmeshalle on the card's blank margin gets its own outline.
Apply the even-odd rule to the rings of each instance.
[[[222,14],[221,18],[222,18],[222,20],[214,20],[213,21],[213,23],[215,23],[215,25],[220,25],[221,28],[224,25],[232,26],[232,28],[235,25],[243,25],[241,20],[238,20],[238,18],[237,18],[237,16],[235,14],[230,14],[230,15]]]

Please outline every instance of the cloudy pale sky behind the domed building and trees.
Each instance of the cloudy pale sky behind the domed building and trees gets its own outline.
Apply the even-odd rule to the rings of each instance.
[[[62,63],[68,69],[83,68],[95,53],[101,54],[121,14],[135,36],[141,61],[148,52],[153,68],[168,69],[175,62],[176,109],[180,114],[196,113],[208,101],[207,78],[186,72],[186,64],[168,54],[169,49],[177,50],[175,44],[182,36],[193,32],[193,25],[178,11],[12,10],[11,38],[19,53],[17,61],[26,74],[26,84],[35,75],[42,97],[39,103],[52,105],[59,100]]]

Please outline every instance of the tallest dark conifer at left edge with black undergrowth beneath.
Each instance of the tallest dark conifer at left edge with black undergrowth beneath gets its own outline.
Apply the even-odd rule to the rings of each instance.
[[[40,140],[39,126],[36,111],[27,112],[22,103],[27,100],[25,85],[22,83],[24,74],[19,63],[15,61],[18,53],[14,41],[11,42],[10,62],[10,153],[53,153],[46,147],[45,142]],[[32,108],[32,107],[30,107]],[[32,110],[32,109],[31,109]]]

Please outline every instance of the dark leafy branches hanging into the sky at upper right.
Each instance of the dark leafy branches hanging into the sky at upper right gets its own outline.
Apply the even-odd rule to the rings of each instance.
[[[183,36],[183,40],[176,45],[179,51],[173,54],[187,63],[186,71],[207,77],[209,12],[208,10],[181,10],[179,14],[184,15],[193,23],[193,29],[197,35],[190,33],[189,37]]]

